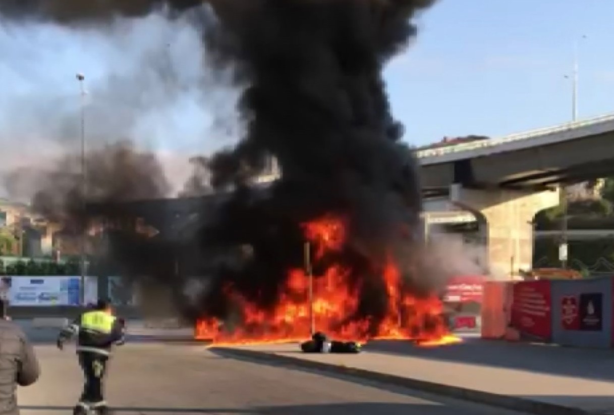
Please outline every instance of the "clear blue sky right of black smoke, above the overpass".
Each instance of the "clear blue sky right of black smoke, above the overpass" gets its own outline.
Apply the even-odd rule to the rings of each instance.
[[[442,0],[386,71],[406,140],[489,136],[569,121],[573,45],[578,114],[614,112],[614,1]]]

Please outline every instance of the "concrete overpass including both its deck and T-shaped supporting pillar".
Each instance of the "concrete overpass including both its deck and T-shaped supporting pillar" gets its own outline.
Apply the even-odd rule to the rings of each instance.
[[[559,204],[558,185],[614,173],[614,114],[419,149],[416,156],[425,195],[447,191],[448,210],[470,211],[486,224],[489,267],[529,269],[532,219]]]

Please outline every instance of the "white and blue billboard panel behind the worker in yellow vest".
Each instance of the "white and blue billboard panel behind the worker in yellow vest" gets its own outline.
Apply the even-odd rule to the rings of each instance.
[[[11,306],[79,306],[80,277],[11,277]]]

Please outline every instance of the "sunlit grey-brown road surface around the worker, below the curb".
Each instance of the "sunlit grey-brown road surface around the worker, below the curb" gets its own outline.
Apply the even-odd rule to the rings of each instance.
[[[82,375],[71,346],[37,344],[42,377],[21,388],[23,415],[70,413]],[[262,415],[513,415],[473,403],[290,368],[224,358],[198,344],[126,344],[112,360],[116,413]]]

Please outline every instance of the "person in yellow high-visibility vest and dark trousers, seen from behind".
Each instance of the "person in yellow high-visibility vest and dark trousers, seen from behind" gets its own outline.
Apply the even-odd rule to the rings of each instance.
[[[103,397],[103,379],[112,346],[121,346],[125,341],[125,324],[112,314],[109,301],[99,300],[95,307],[81,314],[60,332],[58,349],[63,350],[64,342],[75,335],[85,384],[73,414],[85,415],[90,411],[108,414],[109,408]]]

